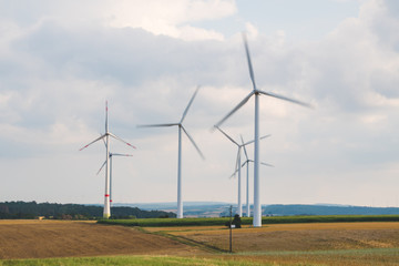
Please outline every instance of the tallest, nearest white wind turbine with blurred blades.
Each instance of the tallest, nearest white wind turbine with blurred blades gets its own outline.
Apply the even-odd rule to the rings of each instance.
[[[244,47],[246,51],[246,58],[248,61],[248,69],[249,69],[249,76],[253,84],[252,92],[246,95],[238,104],[235,106],[229,113],[226,114],[219,122],[217,122],[214,126],[221,126],[229,116],[232,116],[238,109],[241,109],[253,95],[255,95],[255,129],[254,129],[254,139],[255,139],[255,149],[254,149],[254,227],[262,226],[262,206],[260,206],[260,192],[259,192],[259,95],[264,94],[266,96],[277,98],[284,101],[288,101],[291,103],[296,103],[303,106],[310,108],[309,104],[293,100],[286,96],[282,96],[272,92],[265,92],[259,90],[255,83],[255,75],[253,65],[250,62],[249,49],[248,43],[246,40],[245,33],[243,33]]]

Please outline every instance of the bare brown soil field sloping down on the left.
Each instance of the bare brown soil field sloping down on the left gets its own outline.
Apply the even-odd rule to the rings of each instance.
[[[200,253],[203,252],[132,227],[85,222],[0,221],[0,259]]]

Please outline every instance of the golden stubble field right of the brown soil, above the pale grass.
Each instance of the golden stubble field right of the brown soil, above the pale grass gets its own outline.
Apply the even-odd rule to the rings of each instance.
[[[228,250],[228,229],[146,228]],[[399,223],[275,224],[233,229],[234,252],[307,252],[399,247]]]

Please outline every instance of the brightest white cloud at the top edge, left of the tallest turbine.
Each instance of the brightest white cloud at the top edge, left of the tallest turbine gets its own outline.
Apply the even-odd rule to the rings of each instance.
[[[112,27],[142,28],[154,34],[183,40],[222,39],[222,34],[190,25],[191,22],[216,20],[236,12],[232,0],[173,0],[108,2],[105,17]]]

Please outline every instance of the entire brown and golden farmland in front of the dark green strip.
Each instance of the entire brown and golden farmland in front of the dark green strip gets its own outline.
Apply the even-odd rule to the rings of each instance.
[[[127,227],[0,221],[3,265],[399,265],[399,223]],[[60,258],[71,257],[71,258]],[[7,259],[50,258],[50,259]]]

